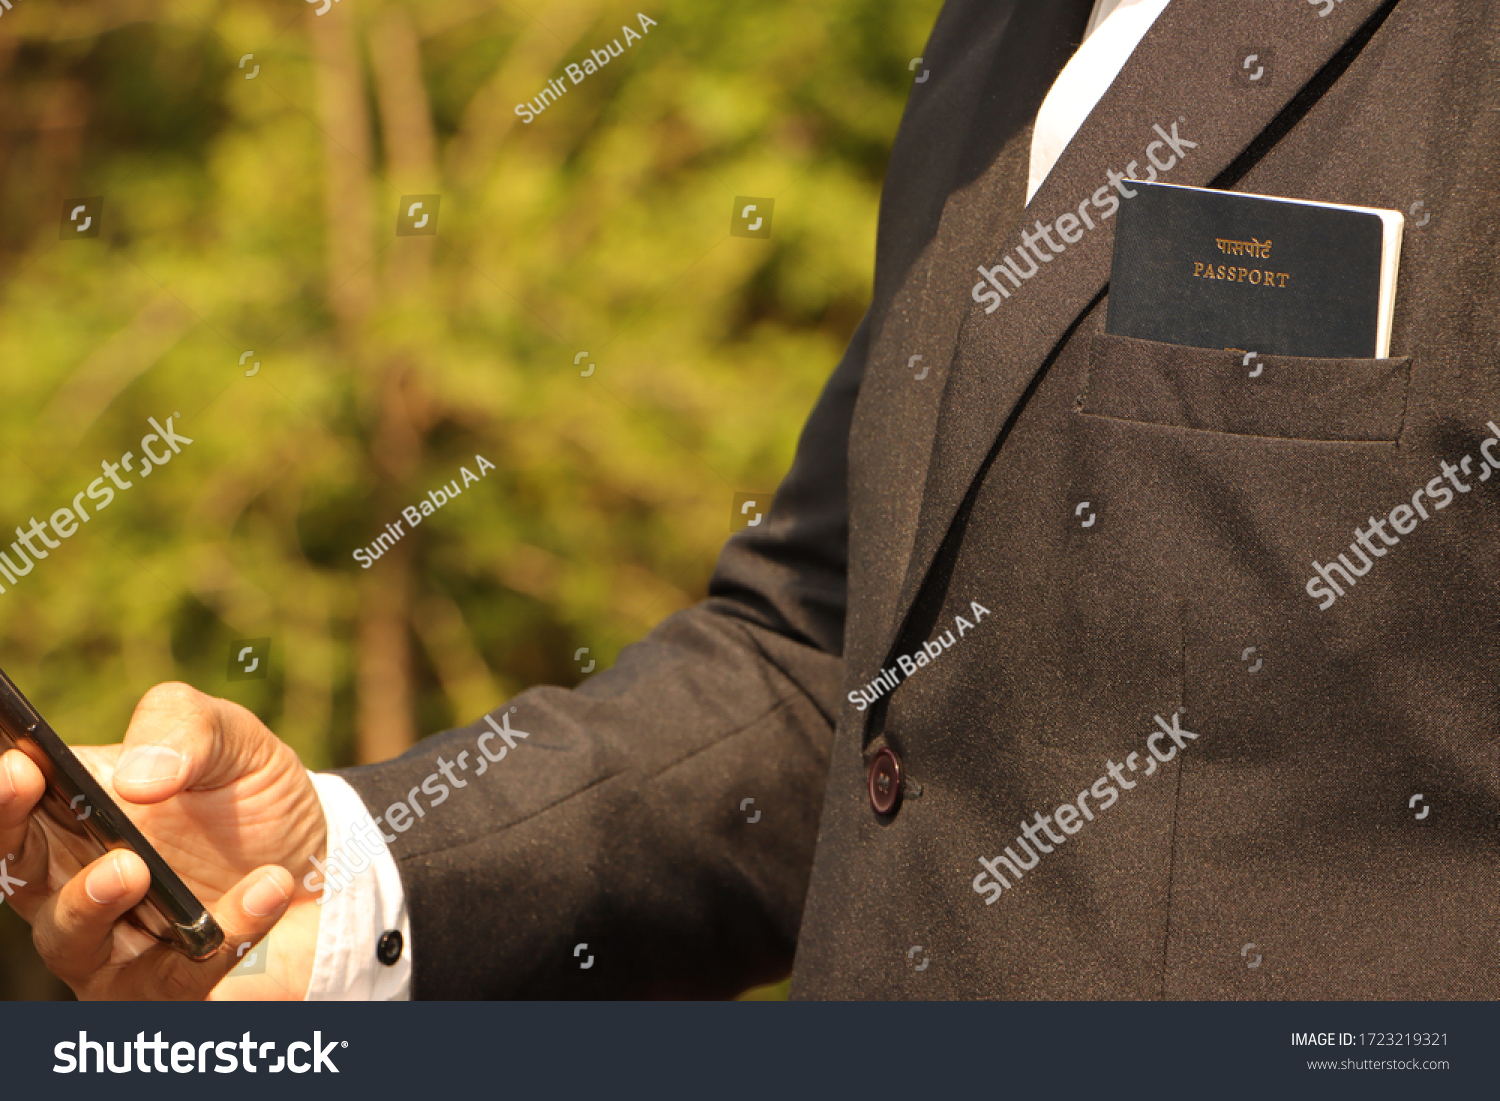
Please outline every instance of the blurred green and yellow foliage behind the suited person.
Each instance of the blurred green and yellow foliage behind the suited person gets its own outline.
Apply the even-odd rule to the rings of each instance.
[[[939,0],[644,2],[0,16],[0,530],[147,417],[194,440],[0,594],[0,664],[64,738],[118,741],[183,680],[309,768],[378,759],[704,596],[864,310]],[[414,194],[436,236],[396,236]],[[729,234],[736,195],[774,198],[770,240]],[[60,238],[76,196],[98,238]],[[270,675],[226,680],[261,636]],[[4,914],[0,996],[57,993]]]

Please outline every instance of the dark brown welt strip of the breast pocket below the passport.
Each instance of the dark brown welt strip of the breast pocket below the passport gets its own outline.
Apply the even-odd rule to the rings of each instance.
[[[1395,442],[1410,368],[1410,356],[1257,356],[1096,333],[1078,412],[1269,440]]]

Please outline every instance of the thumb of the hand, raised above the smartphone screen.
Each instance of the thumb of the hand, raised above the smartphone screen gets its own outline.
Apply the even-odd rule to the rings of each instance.
[[[130,717],[114,764],[114,789],[140,804],[224,788],[266,765],[274,741],[238,704],[188,684],[158,684]]]

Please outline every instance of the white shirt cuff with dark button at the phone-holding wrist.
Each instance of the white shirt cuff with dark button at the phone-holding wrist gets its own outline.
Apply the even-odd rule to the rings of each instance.
[[[328,824],[327,861],[303,880],[321,890],[318,951],[309,1002],[394,1002],[411,998],[411,920],[396,860],[380,826],[350,784],[330,772],[309,772]],[[400,934],[400,958],[380,962],[387,933]]]

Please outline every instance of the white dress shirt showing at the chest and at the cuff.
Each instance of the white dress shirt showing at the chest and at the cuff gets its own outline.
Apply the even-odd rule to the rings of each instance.
[[[1125,68],[1125,62],[1167,8],[1168,0],[1095,0],[1083,45],[1053,82],[1036,112],[1032,132],[1026,201],[1030,202],[1047,172],[1072,141],[1083,120]],[[360,796],[342,778],[314,774],[328,820],[328,854],[345,854],[345,872],[354,872],[339,891],[326,890],[318,950],[308,1000],[411,998],[411,918],[396,860],[384,846],[372,856],[354,843],[378,830]],[[352,854],[354,860],[348,860]],[[351,864],[368,864],[363,872]],[[375,954],[381,936],[398,932],[404,950],[394,964]]]

